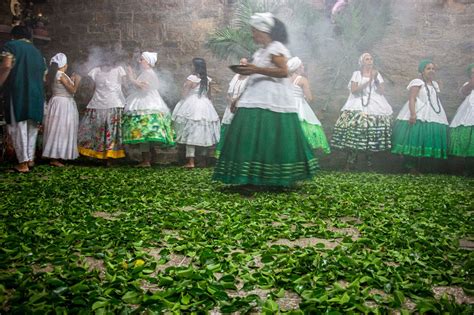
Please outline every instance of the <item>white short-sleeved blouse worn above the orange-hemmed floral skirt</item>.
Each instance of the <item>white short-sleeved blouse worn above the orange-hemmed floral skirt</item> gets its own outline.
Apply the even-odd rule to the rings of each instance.
[[[125,70],[120,66],[109,71],[103,71],[100,67],[92,69],[88,76],[94,80],[95,91],[87,108],[123,108],[125,97],[122,93],[122,78],[126,75]]]

